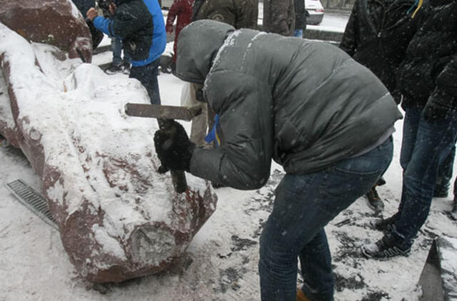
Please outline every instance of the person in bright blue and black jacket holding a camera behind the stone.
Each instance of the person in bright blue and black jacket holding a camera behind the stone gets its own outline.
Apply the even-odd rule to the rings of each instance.
[[[87,17],[96,29],[122,39],[131,57],[130,77],[138,79],[148,91],[151,103],[160,104],[157,81],[160,56],[165,50],[164,16],[156,0],[119,0],[110,6],[112,19],[99,16],[91,7]]]

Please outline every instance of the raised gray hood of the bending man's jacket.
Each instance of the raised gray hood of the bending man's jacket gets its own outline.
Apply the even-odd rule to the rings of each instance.
[[[217,52],[235,30],[212,20],[194,21],[179,34],[176,76],[191,83],[204,83]]]

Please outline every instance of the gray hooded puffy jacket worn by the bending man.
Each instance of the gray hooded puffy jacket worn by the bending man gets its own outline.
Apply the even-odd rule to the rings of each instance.
[[[259,188],[271,158],[287,173],[313,173],[373,146],[401,118],[381,81],[330,44],[210,20],[179,39],[176,75],[204,83],[225,139],[194,151],[200,178]]]

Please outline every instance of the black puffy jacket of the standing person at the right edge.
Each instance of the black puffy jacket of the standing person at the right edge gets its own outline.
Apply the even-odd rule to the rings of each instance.
[[[431,2],[433,4],[433,2]],[[397,73],[403,108],[457,109],[457,1],[432,6]]]

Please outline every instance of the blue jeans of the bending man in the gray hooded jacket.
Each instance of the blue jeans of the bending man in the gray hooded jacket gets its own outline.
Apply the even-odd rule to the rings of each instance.
[[[284,176],[260,240],[261,300],[296,300],[297,257],[305,295],[311,300],[333,300],[331,255],[323,228],[373,187],[388,168],[392,153],[392,138],[388,138],[372,151],[320,172]]]

